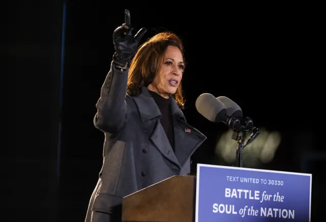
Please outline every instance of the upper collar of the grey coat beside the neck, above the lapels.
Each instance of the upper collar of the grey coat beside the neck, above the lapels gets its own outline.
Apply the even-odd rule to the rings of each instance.
[[[141,114],[141,119],[143,122],[151,120],[156,117],[161,116],[161,112],[156,105],[155,100],[152,98],[152,95],[148,92],[146,87],[141,88],[141,93],[138,96],[133,97],[139,112]],[[170,97],[171,101],[171,112],[174,118],[185,119],[182,111],[178,107],[175,99]]]

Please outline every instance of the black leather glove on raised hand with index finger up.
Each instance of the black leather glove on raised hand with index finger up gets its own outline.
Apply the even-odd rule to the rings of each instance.
[[[113,33],[113,44],[116,50],[113,55],[113,62],[126,69],[130,66],[130,62],[138,49],[139,42],[147,30],[142,28],[133,36],[133,28],[130,25],[130,12],[126,9],[124,13],[125,23],[119,26]]]

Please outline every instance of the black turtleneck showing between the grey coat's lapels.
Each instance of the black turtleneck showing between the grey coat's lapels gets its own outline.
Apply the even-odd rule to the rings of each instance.
[[[171,114],[171,99],[170,98],[166,99],[164,97],[161,97],[157,93],[150,90],[149,92],[152,95],[153,99],[155,100],[162,114],[160,117],[160,122],[162,127],[164,128],[165,133],[167,134],[171,147],[174,151],[174,134],[173,134],[173,121],[172,121],[172,114]]]

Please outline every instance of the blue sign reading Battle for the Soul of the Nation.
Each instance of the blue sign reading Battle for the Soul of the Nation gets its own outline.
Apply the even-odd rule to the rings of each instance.
[[[196,222],[308,222],[311,180],[311,174],[198,164]]]

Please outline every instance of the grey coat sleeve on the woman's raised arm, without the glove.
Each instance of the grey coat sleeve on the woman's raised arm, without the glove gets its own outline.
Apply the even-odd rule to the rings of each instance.
[[[97,112],[94,125],[109,133],[119,133],[127,120],[127,105],[125,102],[129,69],[120,71],[111,63],[101,88],[100,98],[96,103]]]

